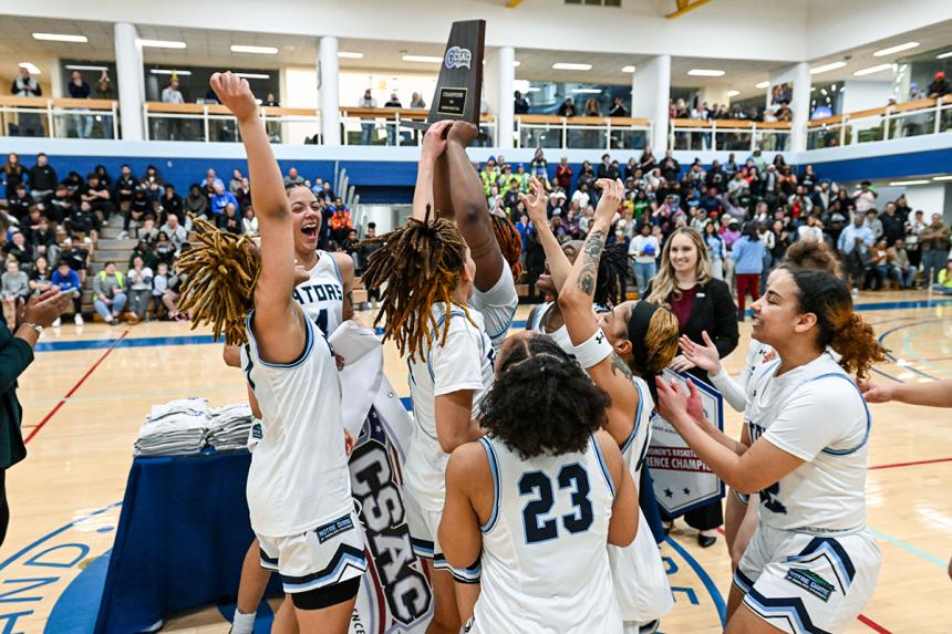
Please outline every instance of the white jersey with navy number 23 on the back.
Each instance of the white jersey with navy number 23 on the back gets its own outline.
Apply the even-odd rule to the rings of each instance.
[[[608,563],[614,485],[598,440],[522,459],[480,439],[494,478],[472,632],[620,633]]]

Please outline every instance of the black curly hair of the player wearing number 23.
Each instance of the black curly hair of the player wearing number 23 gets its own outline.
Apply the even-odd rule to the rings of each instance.
[[[548,335],[520,336],[503,354],[480,425],[524,460],[582,451],[608,422],[609,395]]]

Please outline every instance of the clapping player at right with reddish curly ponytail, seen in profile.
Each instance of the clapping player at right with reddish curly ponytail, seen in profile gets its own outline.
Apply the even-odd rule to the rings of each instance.
[[[747,382],[742,441],[699,422],[700,402],[660,380],[659,410],[725,482],[760,491],[726,632],[845,632],[881,563],[866,527],[871,419],[850,374],[865,377],[884,351],[826,272],[782,268],[753,310],[754,337],[778,358]]]

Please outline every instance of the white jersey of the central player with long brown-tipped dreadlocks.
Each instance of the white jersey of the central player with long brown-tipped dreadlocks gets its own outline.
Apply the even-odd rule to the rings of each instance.
[[[433,306],[433,319],[437,323],[435,341],[425,346],[423,360],[407,361],[410,366],[410,396],[413,401],[413,441],[406,459],[406,486],[421,508],[442,511],[446,493],[446,454],[436,436],[436,397],[461,389],[473,391],[473,417],[479,402],[495,378],[493,362],[495,351],[483,315],[469,308],[466,316],[463,308],[451,306],[449,333],[442,343],[443,324],[447,319],[446,306]],[[473,320],[470,322],[470,319]]]

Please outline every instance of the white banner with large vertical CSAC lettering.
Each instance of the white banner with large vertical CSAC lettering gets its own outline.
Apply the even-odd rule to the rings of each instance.
[[[330,342],[345,363],[342,414],[354,438],[351,488],[368,555],[350,632],[423,634],[433,614],[433,592],[411,547],[402,490],[413,419],[383,374],[383,346],[372,330],[348,321]]]

